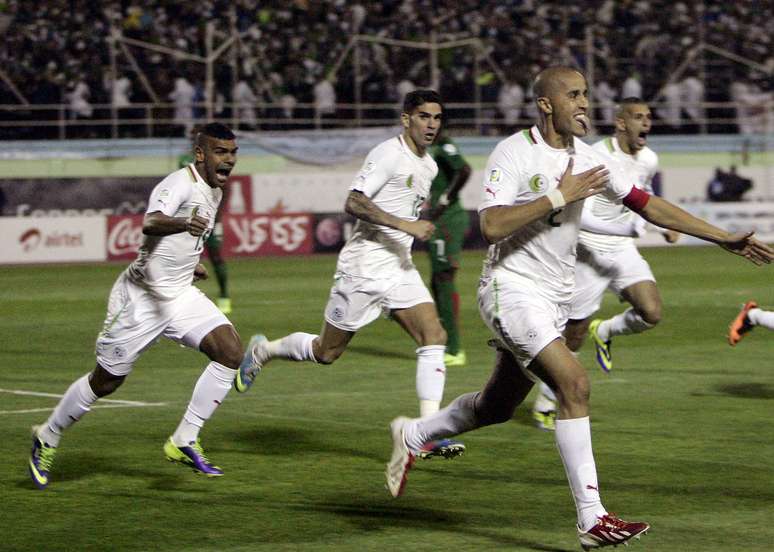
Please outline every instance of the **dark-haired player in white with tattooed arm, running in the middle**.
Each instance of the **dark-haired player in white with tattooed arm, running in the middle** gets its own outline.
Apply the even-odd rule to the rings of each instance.
[[[437,412],[446,380],[446,332],[430,292],[411,258],[414,239],[428,240],[432,222],[420,220],[438,166],[427,148],[438,135],[441,98],[415,90],[403,102],[403,133],[372,149],[350,186],[345,210],[356,217],[352,236],[339,253],[334,283],[320,335],[295,332],[274,341],[255,335],[248,345],[253,362],[240,367],[236,388],[247,391],[271,359],[331,364],[355,333],[383,312],[406,330],[416,349],[416,390],[420,414]],[[452,458],[464,445],[441,440],[425,443],[420,456]]]

